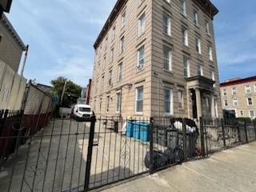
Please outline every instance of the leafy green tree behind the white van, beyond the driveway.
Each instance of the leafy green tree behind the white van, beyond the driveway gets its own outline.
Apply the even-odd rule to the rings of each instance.
[[[77,103],[77,99],[80,97],[82,87],[78,86],[74,82],[67,78],[59,77],[51,81],[54,93],[58,95],[58,98],[62,97],[62,90],[66,82],[65,94],[62,101],[63,107],[70,107]]]

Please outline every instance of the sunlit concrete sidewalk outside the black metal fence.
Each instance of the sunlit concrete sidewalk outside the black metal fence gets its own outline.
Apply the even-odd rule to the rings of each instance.
[[[105,192],[254,192],[256,142],[187,162],[157,174],[103,190]]]

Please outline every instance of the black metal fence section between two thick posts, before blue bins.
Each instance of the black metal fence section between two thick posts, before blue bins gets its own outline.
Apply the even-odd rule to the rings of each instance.
[[[141,130],[144,127],[145,134]],[[149,171],[150,118],[99,118],[90,136],[85,190],[93,190]],[[147,132],[148,131],[148,132]],[[90,147],[89,147],[90,148]],[[87,177],[88,176],[88,177]]]

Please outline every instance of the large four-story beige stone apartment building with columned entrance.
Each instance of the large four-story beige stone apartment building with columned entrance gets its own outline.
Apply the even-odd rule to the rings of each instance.
[[[118,0],[94,43],[102,115],[222,116],[209,0]]]

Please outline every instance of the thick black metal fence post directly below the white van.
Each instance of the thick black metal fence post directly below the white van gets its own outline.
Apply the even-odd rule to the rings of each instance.
[[[91,166],[91,158],[93,154],[94,147],[94,130],[95,130],[95,115],[90,119],[90,138],[88,143],[88,152],[87,152],[87,161],[86,161],[86,178],[85,178],[85,186],[84,191],[89,191],[90,186],[90,166]]]

